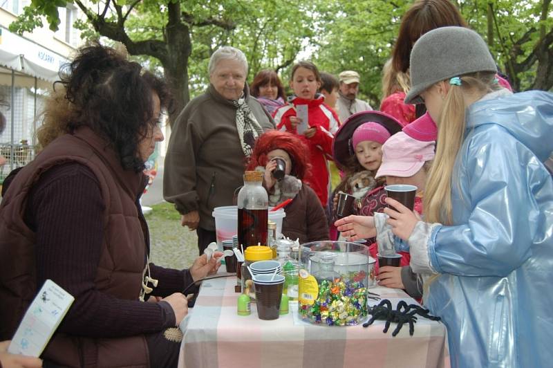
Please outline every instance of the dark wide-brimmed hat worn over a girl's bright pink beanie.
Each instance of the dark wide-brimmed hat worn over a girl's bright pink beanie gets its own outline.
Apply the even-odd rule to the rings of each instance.
[[[353,132],[366,122],[377,122],[386,128],[391,136],[402,130],[400,122],[382,111],[361,111],[354,113],[342,123],[332,141],[332,157],[340,169],[344,169],[347,166],[348,158],[355,154],[351,143]]]

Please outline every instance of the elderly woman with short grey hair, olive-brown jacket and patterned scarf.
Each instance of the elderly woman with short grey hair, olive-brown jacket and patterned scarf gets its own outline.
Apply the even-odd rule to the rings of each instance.
[[[207,91],[187,104],[171,133],[163,195],[175,203],[181,225],[198,233],[200,255],[216,240],[213,209],[232,205],[256,138],[274,129],[271,116],[250,95],[246,76],[241,50],[216,50]]]

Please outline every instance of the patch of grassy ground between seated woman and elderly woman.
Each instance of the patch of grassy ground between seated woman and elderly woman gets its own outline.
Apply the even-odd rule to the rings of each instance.
[[[163,201],[163,167],[158,168],[142,205],[152,208],[146,219],[150,230],[150,260],[159,266],[188,268],[198,256],[198,237],[195,231],[180,226],[180,214],[171,203]]]

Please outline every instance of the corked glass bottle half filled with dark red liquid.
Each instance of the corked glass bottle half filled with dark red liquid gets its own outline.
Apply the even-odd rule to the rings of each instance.
[[[238,246],[267,245],[269,197],[263,187],[263,172],[244,173],[244,186],[238,192]]]

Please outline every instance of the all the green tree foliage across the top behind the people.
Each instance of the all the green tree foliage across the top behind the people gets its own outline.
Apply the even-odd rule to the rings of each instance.
[[[553,86],[551,0],[451,0],[471,28],[487,39],[514,89]],[[205,89],[207,62],[216,48],[241,48],[248,80],[273,68],[283,80],[301,58],[321,71],[353,69],[360,94],[373,107],[381,99],[382,66],[391,55],[401,17],[412,0],[32,0],[10,29],[23,32],[59,24],[58,7],[74,3],[86,37],[122,42],[131,55],[162,70],[180,104]],[[177,109],[177,113],[178,113]]]

